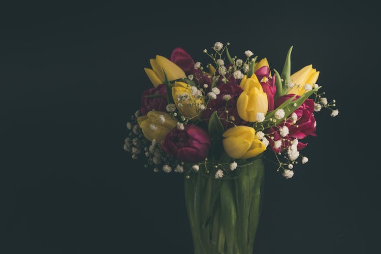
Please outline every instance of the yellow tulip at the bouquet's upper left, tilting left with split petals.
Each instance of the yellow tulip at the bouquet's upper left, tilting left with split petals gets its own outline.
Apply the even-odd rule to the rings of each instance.
[[[155,59],[150,59],[152,69],[144,68],[145,73],[151,80],[154,87],[163,84],[165,81],[164,71],[167,73],[168,80],[185,78],[185,73],[175,63],[161,55],[156,55]]]

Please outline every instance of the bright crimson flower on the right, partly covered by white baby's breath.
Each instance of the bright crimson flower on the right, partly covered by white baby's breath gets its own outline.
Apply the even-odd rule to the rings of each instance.
[[[294,94],[286,94],[282,97],[279,97],[275,101],[275,108],[279,107],[283,102],[287,101],[288,99],[292,98]],[[296,96],[294,100],[299,98],[299,96]],[[294,139],[303,139],[309,135],[316,136],[314,132],[316,131],[316,120],[313,116],[313,110],[314,110],[315,104],[313,100],[307,99],[304,101],[304,103],[297,108],[294,113],[297,116],[296,123],[293,123],[292,119],[289,119],[287,122],[282,122],[278,126],[270,128],[267,133],[274,137],[274,139],[270,139],[270,146],[275,152],[282,151],[284,149],[287,149],[291,141]],[[285,137],[281,137],[279,133],[279,128],[283,126],[287,126],[289,128],[289,134]],[[284,140],[282,140],[284,139]],[[275,141],[281,140],[281,146],[278,148],[275,148]],[[306,143],[298,143],[298,150],[303,149],[307,144]]]

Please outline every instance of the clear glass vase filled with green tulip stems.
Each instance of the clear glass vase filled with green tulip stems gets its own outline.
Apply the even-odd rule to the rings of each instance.
[[[265,168],[263,156],[215,179],[199,172],[185,178],[185,202],[195,254],[251,254],[257,232]]]

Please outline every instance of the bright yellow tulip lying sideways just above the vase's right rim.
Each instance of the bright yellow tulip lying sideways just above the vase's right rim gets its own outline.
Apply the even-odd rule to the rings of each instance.
[[[255,130],[239,125],[224,132],[225,152],[232,158],[251,158],[266,150],[261,140],[255,138]]]

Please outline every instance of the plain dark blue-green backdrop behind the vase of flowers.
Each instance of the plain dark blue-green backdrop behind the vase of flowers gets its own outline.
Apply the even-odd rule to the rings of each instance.
[[[340,110],[317,114],[294,178],[267,165],[256,253],[377,253],[376,14],[364,1],[3,4],[0,252],[192,253],[182,176],[125,154],[125,123],[149,58],[180,46],[206,64],[202,50],[229,41],[277,70],[294,45],[292,71],[313,63]]]

